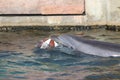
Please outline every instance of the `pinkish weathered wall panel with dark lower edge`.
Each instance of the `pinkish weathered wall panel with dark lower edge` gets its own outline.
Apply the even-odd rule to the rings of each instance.
[[[84,0],[0,0],[0,14],[82,14]]]

